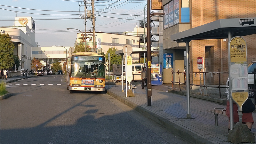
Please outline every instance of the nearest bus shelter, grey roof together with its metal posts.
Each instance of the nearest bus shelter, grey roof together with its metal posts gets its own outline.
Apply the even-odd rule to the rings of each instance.
[[[224,39],[228,38],[229,42],[234,36],[247,36],[256,34],[256,17],[254,18],[235,18],[235,19],[220,19],[196,28],[191,28],[177,34],[171,35],[171,41],[177,43],[186,43],[186,83],[187,83],[187,118],[191,118],[190,113],[190,98],[189,98],[189,47],[188,43],[191,40],[206,40],[206,39]],[[232,117],[231,117],[232,116]],[[233,101],[230,99],[230,129],[234,125],[233,120]]]

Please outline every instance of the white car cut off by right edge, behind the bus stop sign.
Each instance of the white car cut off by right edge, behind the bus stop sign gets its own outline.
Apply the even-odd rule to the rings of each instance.
[[[256,68],[256,61],[252,61],[251,63],[249,63],[248,65],[248,73],[250,72],[254,72],[254,69]],[[256,90],[256,86],[254,84],[254,74],[248,74],[248,92],[249,92],[249,98],[254,98],[255,96],[255,91]]]

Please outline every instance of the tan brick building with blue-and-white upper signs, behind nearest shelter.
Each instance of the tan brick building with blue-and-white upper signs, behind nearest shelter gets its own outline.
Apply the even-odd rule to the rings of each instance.
[[[241,5],[242,4],[242,5]],[[232,0],[163,0],[164,7],[164,50],[173,53],[173,68],[186,69],[184,59],[185,43],[170,41],[170,36],[181,31],[195,28],[219,19],[249,18],[256,16],[256,1],[240,0],[239,3]],[[254,20],[255,21],[255,20]],[[244,36],[247,42],[247,60],[256,59],[255,44],[256,35]],[[220,75],[221,84],[225,85],[228,79],[228,40],[192,40],[189,43],[190,72],[199,72],[197,69],[197,57],[204,57],[204,70],[206,72],[223,72]],[[178,81],[178,76],[174,77]],[[184,82],[184,80],[183,80]],[[199,84],[199,76],[190,74],[190,84]],[[207,85],[219,84],[218,75],[206,75]]]

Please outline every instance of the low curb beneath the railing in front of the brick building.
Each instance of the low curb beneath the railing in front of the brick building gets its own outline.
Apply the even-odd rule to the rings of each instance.
[[[182,96],[187,95],[187,92],[175,91],[175,90],[170,90],[170,89],[168,90],[168,92],[180,94]],[[192,93],[190,93],[190,97],[197,98],[197,99],[202,99],[202,100],[213,101],[213,102],[218,102],[218,103],[221,103],[223,105],[227,105],[227,100],[225,100],[225,99],[212,98],[212,97],[196,95],[196,94],[192,94]]]

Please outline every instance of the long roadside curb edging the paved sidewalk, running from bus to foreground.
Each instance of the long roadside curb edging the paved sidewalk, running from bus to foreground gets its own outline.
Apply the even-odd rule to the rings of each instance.
[[[194,134],[193,132],[190,132],[190,131],[180,127],[179,125],[174,124],[174,123],[166,120],[165,118],[156,115],[155,113],[147,110],[146,108],[143,108],[143,107],[141,107],[141,106],[139,106],[139,105],[137,105],[137,104],[135,104],[135,103],[125,99],[124,97],[119,96],[118,94],[116,94],[114,92],[111,92],[111,90],[107,90],[107,94],[112,96],[113,98],[123,102],[127,106],[133,108],[134,110],[138,111],[143,116],[153,120],[157,124],[162,125],[167,130],[177,134],[178,136],[180,136],[181,138],[187,140],[188,142],[191,142],[193,144],[213,144],[212,142],[203,139],[202,137]]]

